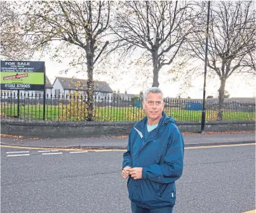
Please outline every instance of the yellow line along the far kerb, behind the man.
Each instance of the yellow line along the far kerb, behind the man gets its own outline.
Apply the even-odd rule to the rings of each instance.
[[[242,144],[236,144],[236,145],[216,145],[216,146],[192,146],[192,147],[185,147],[185,150],[194,150],[199,148],[219,148],[219,147],[232,147],[232,146],[252,146],[255,145],[255,143],[242,143]],[[40,148],[40,147],[30,147],[30,146],[10,146],[10,145],[0,145],[0,147],[3,148],[18,148],[18,149],[28,149],[28,150],[53,150],[53,148]],[[78,151],[78,150],[85,150],[83,148],[54,148],[58,151]],[[95,150],[95,149],[86,149],[88,152],[125,152],[126,150]],[[256,212],[255,212],[256,213]]]

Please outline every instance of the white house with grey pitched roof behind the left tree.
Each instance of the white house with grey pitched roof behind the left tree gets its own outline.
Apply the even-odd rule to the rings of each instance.
[[[53,82],[53,95],[62,98],[62,95],[67,96],[67,94],[73,94],[78,91],[79,94],[86,95],[87,80],[85,79],[75,79],[67,77],[56,77]],[[111,98],[112,89],[105,81],[94,81],[94,95],[97,98]]]

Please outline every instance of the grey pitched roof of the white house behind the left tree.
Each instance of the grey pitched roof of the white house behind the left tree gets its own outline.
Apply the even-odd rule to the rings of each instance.
[[[87,89],[87,80],[67,77],[56,77],[63,89],[82,90]],[[56,81],[55,79],[55,81]],[[54,83],[53,83],[54,84]],[[113,93],[111,87],[105,81],[94,81],[94,91]]]

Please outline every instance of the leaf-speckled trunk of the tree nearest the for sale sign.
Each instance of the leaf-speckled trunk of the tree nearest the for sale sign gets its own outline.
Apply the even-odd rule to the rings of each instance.
[[[87,53],[86,54],[87,60],[87,112],[88,112],[88,121],[93,120],[93,92],[94,92],[94,82],[93,82],[93,54]]]

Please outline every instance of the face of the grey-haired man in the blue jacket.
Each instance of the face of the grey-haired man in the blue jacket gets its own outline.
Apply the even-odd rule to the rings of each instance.
[[[158,120],[162,116],[165,103],[162,101],[161,93],[149,93],[142,105],[149,120]]]

